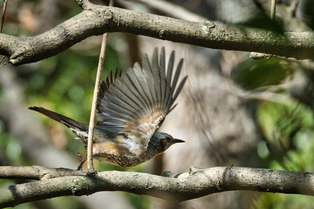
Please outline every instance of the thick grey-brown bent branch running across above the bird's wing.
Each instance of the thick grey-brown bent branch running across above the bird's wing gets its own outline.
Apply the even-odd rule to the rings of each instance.
[[[55,28],[21,38],[0,34],[0,54],[13,65],[57,55],[89,36],[126,32],[212,49],[254,51],[296,59],[314,58],[314,32],[273,33],[263,29],[179,20],[80,0],[83,11]]]

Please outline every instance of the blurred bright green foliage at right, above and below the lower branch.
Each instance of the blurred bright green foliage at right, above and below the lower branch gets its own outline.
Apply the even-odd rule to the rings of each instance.
[[[314,114],[305,105],[261,102],[257,109],[269,155],[265,168],[314,172]],[[303,195],[261,193],[255,208],[312,208],[314,198]]]

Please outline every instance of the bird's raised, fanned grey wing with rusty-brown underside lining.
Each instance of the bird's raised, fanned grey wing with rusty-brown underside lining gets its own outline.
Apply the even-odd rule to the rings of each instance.
[[[177,86],[183,59],[174,77],[173,63],[174,51],[166,74],[165,49],[161,49],[158,63],[158,50],[155,48],[151,64],[145,55],[142,67],[136,62],[122,76],[117,76],[116,72],[113,77],[111,73],[110,79],[101,84],[96,127],[123,134],[146,146],[165,116],[176,106],[174,101],[187,79],[185,76]]]

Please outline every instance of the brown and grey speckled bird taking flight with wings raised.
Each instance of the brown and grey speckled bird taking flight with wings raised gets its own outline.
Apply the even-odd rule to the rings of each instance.
[[[174,104],[187,76],[177,86],[183,59],[173,74],[175,52],[172,51],[167,74],[165,48],[158,61],[158,48],[149,62],[147,54],[142,65],[136,62],[126,72],[110,72],[102,81],[97,102],[94,129],[93,159],[121,167],[133,167],[164,152],[172,144],[185,142],[168,133],[156,132]],[[68,127],[87,148],[89,126],[43,107],[29,107]],[[78,170],[87,156],[82,160]]]

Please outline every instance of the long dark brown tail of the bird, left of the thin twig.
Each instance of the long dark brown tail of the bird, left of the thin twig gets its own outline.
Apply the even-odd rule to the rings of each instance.
[[[28,109],[40,112],[41,114],[44,114],[44,115],[48,116],[49,118],[54,119],[55,121],[58,121],[59,123],[62,123],[66,127],[70,128],[70,130],[73,133],[75,133],[78,137],[80,137],[77,139],[79,139],[83,142],[87,141],[88,125],[81,123],[81,122],[78,122],[76,120],[73,120],[71,118],[68,118],[66,116],[63,116],[61,114],[58,114],[57,112],[52,112],[52,111],[47,110],[43,107],[29,107]]]

